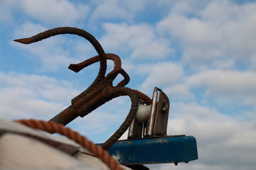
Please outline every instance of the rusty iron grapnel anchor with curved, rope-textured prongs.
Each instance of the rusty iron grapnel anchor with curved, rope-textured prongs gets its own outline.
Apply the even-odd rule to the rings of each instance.
[[[90,64],[100,62],[100,70],[92,84],[80,95],[73,98],[71,101],[71,106],[66,108],[64,111],[49,121],[67,125],[78,116],[83,117],[87,115],[88,113],[94,111],[96,108],[102,106],[104,103],[112,100],[113,98],[117,98],[119,96],[129,96],[132,101],[132,106],[129,110],[127,118],[125,118],[119,129],[114,132],[114,134],[104,144],[102,144],[104,149],[109,149],[114,144],[114,142],[116,142],[119,137],[122,136],[127,128],[129,128],[129,125],[131,125],[132,120],[137,113],[139,102],[149,105],[151,104],[151,98],[140,91],[124,87],[129,83],[129,75],[124,71],[124,69],[122,69],[120,58],[114,54],[105,54],[105,51],[100,45],[100,42],[98,42],[96,38],[94,38],[90,33],[87,33],[85,30],[70,27],[54,28],[34,35],[31,38],[23,38],[14,41],[21,42],[23,44],[30,44],[60,34],[79,35],[88,40],[93,45],[93,47],[95,47],[95,50],[98,53],[97,56],[85,60],[84,62],[80,62],[78,64],[70,64],[68,67],[69,69],[72,69],[74,72],[79,72],[81,69],[89,66]],[[107,74],[107,76],[105,76],[107,60],[114,61],[114,69],[109,74]],[[121,74],[124,79],[120,81],[117,86],[113,86],[112,82],[118,74]]]

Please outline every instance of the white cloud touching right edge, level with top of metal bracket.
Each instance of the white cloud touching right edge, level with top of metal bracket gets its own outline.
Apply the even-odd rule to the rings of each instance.
[[[189,77],[187,84],[205,93],[206,99],[215,98],[219,103],[238,102],[252,107],[256,103],[255,72],[205,70]]]

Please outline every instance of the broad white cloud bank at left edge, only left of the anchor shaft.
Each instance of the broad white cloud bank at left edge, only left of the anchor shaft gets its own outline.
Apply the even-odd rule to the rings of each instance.
[[[0,73],[1,117],[46,120],[68,106],[78,94],[67,81],[46,76]]]

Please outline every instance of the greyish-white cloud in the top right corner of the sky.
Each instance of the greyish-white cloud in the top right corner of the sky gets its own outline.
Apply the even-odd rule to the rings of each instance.
[[[229,1],[215,1],[202,16],[213,23],[216,30],[220,29],[224,50],[233,57],[244,59],[255,54],[256,40],[252,36],[256,28],[255,9],[255,2],[238,6]]]

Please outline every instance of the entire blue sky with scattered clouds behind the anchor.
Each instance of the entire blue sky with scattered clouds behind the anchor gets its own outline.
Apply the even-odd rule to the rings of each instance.
[[[97,55],[86,40],[13,41],[77,27],[121,57],[129,88],[150,97],[154,86],[166,92],[168,135],[196,137],[197,161],[151,169],[255,169],[255,18],[256,1],[1,0],[0,117],[48,120],[92,83],[99,64],[77,74],[68,69]],[[104,142],[129,106],[129,98],[116,98],[69,126]]]

